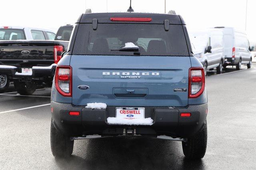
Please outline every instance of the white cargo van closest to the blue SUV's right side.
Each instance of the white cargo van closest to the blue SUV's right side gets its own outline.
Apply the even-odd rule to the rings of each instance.
[[[221,29],[197,29],[189,31],[194,56],[203,64],[204,71],[216,68],[222,72],[224,64],[223,31]]]

